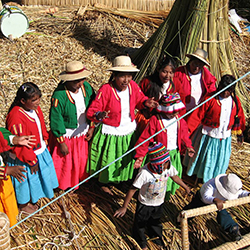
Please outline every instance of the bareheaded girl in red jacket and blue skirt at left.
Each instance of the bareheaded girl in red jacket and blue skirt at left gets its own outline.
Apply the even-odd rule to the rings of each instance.
[[[58,181],[52,158],[46,147],[48,133],[39,107],[41,91],[32,82],[22,84],[6,118],[7,129],[14,135],[35,135],[32,148],[15,146],[11,149],[8,166],[24,166],[26,179],[12,178],[17,203],[21,211],[33,213],[40,198],[52,198]]]

